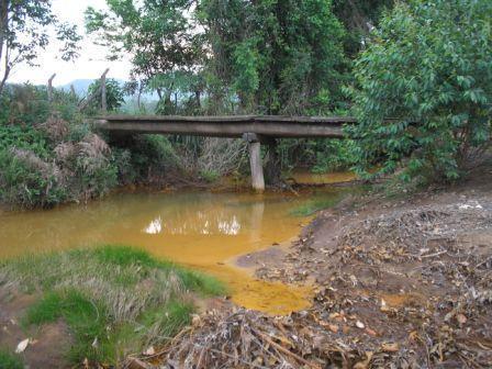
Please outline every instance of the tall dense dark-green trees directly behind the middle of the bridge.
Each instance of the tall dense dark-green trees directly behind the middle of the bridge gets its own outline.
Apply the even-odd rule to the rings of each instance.
[[[322,113],[339,100],[344,29],[327,0],[203,0],[212,96],[246,112]]]

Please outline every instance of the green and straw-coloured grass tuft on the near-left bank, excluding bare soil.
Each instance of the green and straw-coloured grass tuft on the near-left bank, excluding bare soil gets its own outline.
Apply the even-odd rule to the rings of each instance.
[[[163,344],[189,323],[193,297],[226,293],[216,279],[127,246],[101,246],[0,262],[0,286],[41,299],[25,328],[62,318],[74,336],[75,364],[116,365]]]

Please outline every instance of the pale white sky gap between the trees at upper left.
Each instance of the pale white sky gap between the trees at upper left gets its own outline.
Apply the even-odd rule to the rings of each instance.
[[[85,34],[83,12],[87,7],[104,9],[105,1],[53,0],[53,11],[59,20],[77,24],[79,32],[83,34],[79,58],[75,62],[59,59],[59,44],[54,42],[44,52],[40,53],[36,60],[40,67],[18,66],[12,71],[9,81],[46,83],[49,77],[56,72],[54,85],[62,86],[75,79],[96,79],[102,75],[105,68],[110,68],[109,78],[127,79],[131,69],[130,62],[107,60],[104,47],[94,45],[91,37]]]

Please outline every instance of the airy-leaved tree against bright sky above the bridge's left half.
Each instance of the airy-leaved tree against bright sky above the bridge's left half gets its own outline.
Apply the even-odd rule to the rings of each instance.
[[[107,0],[109,11],[88,8],[86,26],[98,35],[100,44],[110,49],[110,58],[122,53],[132,56],[132,78],[144,81],[177,69],[190,70],[197,55],[192,20],[187,16],[192,0],[136,3],[127,0]],[[165,92],[154,85],[160,98]],[[170,96],[166,96],[170,98]]]

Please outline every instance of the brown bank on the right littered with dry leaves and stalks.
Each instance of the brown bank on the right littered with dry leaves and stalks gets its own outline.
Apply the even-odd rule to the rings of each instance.
[[[163,361],[490,368],[490,177],[323,211],[283,257],[271,250],[248,257],[258,278],[314,281],[311,309],[282,317],[237,309],[204,314],[163,349]]]

